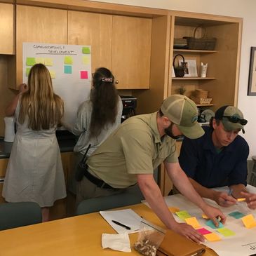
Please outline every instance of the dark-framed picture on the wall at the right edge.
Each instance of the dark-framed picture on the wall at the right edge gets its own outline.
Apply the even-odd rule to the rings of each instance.
[[[250,48],[250,69],[247,95],[256,96],[256,47]]]

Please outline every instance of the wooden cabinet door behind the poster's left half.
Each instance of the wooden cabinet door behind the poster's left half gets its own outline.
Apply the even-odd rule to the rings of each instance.
[[[22,83],[22,43],[67,43],[67,11],[17,6],[16,84]],[[15,86],[13,85],[13,86]]]

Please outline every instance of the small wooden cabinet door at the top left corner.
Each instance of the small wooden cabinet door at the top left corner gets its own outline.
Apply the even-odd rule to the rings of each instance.
[[[13,5],[0,4],[0,54],[14,54]]]

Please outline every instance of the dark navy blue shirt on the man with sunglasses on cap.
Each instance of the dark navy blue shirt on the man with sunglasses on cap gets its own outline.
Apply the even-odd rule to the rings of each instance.
[[[217,153],[212,140],[213,130],[204,126],[205,134],[182,142],[179,162],[188,177],[203,187],[245,184],[247,177],[248,143],[237,135],[235,140]]]

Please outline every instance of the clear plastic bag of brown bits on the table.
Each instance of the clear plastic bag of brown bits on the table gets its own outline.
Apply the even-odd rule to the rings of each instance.
[[[163,241],[165,231],[150,222],[143,220],[140,222],[140,231],[137,241],[133,247],[145,256],[156,256],[156,251]]]

